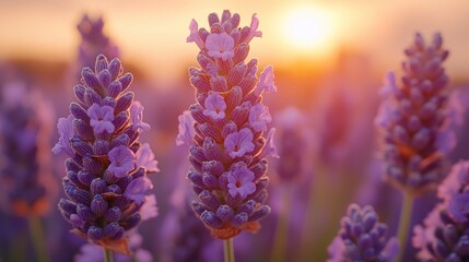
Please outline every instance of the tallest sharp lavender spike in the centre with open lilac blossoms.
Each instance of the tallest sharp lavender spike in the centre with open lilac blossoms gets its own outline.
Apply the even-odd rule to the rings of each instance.
[[[190,68],[197,103],[179,117],[177,144],[189,143],[188,179],[198,194],[192,209],[220,239],[256,231],[270,213],[267,155],[274,153],[267,124],[272,120],[262,94],[277,91],[271,66],[257,78],[257,60],[245,62],[249,41],[261,36],[258,20],[239,27],[239,15],[209,15],[210,29],[192,20],[188,41],[200,48],[200,68]],[[192,129],[194,128],[194,129]]]

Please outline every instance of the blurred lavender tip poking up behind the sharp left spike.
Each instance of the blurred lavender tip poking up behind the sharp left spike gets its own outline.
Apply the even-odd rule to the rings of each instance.
[[[94,67],[96,57],[103,53],[106,57],[118,58],[119,48],[104,33],[104,19],[93,20],[83,14],[77,28],[81,36],[79,46],[79,68]]]

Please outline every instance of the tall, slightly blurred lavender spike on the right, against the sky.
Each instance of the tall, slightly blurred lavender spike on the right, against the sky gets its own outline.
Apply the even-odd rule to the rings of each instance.
[[[448,51],[439,34],[425,44],[420,34],[406,49],[402,85],[389,72],[376,124],[383,133],[386,179],[413,195],[434,189],[444,178],[447,153],[455,145],[449,130],[448,76],[442,67]]]

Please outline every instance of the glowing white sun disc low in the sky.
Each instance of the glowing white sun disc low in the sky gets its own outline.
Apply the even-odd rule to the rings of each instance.
[[[332,40],[332,19],[312,5],[288,11],[282,25],[285,41],[303,51],[325,49]]]

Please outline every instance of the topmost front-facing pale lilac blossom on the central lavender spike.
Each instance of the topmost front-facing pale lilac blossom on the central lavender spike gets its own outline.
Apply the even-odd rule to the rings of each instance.
[[[226,32],[221,34],[210,34],[206,40],[209,56],[226,60],[234,57],[234,39]]]

